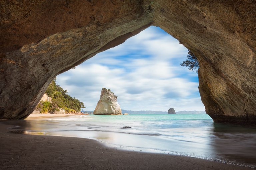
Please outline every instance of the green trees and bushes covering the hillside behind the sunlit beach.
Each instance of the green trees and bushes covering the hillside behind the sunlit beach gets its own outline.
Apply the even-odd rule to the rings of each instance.
[[[41,102],[41,107],[39,103],[37,108],[41,109],[41,113],[54,113],[54,111],[59,110],[58,108],[63,108],[66,113],[75,113],[80,112],[81,108],[85,108],[83,102],[69,96],[67,90],[56,84],[56,78],[50,83],[45,93],[52,98],[52,103],[48,101]]]

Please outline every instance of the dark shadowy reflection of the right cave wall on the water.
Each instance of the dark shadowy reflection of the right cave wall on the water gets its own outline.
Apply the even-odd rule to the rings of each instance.
[[[240,162],[255,167],[255,128],[214,124],[211,134],[209,144],[214,155],[230,163]]]

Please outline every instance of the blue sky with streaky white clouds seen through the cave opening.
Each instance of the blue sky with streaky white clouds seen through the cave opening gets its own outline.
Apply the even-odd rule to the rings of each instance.
[[[196,72],[182,67],[188,50],[159,27],[98,53],[57,76],[57,84],[93,111],[101,89],[110,89],[124,110],[203,111]]]

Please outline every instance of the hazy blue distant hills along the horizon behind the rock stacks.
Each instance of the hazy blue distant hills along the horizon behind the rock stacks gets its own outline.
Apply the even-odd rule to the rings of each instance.
[[[88,114],[93,114],[93,111],[81,111],[81,112],[85,112]],[[139,115],[139,114],[160,114],[160,115],[164,115],[164,114],[168,114],[168,112],[163,112],[163,111],[152,111],[152,110],[141,110],[141,111],[132,111],[132,110],[123,110],[122,109],[122,114],[124,113],[128,113],[129,115]],[[176,112],[176,114],[205,114],[205,111],[179,111]]]

